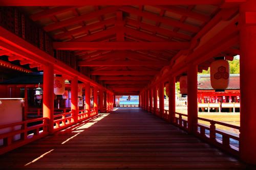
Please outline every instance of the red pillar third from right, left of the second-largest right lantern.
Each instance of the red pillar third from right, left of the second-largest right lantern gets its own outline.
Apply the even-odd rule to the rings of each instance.
[[[175,123],[175,77],[169,79],[169,122]]]

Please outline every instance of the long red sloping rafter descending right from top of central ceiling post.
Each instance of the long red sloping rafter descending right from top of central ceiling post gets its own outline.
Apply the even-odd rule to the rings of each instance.
[[[131,13],[131,14],[135,14],[135,15],[138,15],[138,16],[142,16],[142,17],[151,19],[151,20],[155,20],[155,21],[158,21],[158,22],[165,23],[166,25],[169,25],[169,26],[172,26],[172,27],[178,27],[178,28],[181,28],[183,30],[187,30],[189,32],[195,32],[196,33],[196,32],[200,31],[199,27],[189,25],[189,24],[185,24],[185,23],[182,23],[182,22],[174,20],[174,19],[167,19],[165,17],[161,17],[159,15],[156,15],[156,14],[153,14],[153,13],[150,13],[150,12],[140,11],[137,8],[124,6],[124,7],[120,7],[119,9],[124,11],[124,12],[128,12],[128,13]]]

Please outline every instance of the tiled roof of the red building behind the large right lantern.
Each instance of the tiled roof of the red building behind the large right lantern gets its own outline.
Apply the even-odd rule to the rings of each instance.
[[[210,75],[198,75],[198,89],[200,90],[212,90],[210,85]],[[240,75],[230,75],[229,85],[227,90],[240,89]]]

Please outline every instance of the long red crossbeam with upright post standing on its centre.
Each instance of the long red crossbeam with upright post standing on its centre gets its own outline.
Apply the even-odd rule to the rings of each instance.
[[[56,50],[184,50],[189,42],[54,42]]]

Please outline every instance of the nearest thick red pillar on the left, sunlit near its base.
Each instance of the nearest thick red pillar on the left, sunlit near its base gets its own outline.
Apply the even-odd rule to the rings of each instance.
[[[49,120],[48,132],[53,133],[53,109],[54,109],[54,93],[53,93],[53,65],[44,66],[43,78],[43,99],[42,99],[42,115]]]

